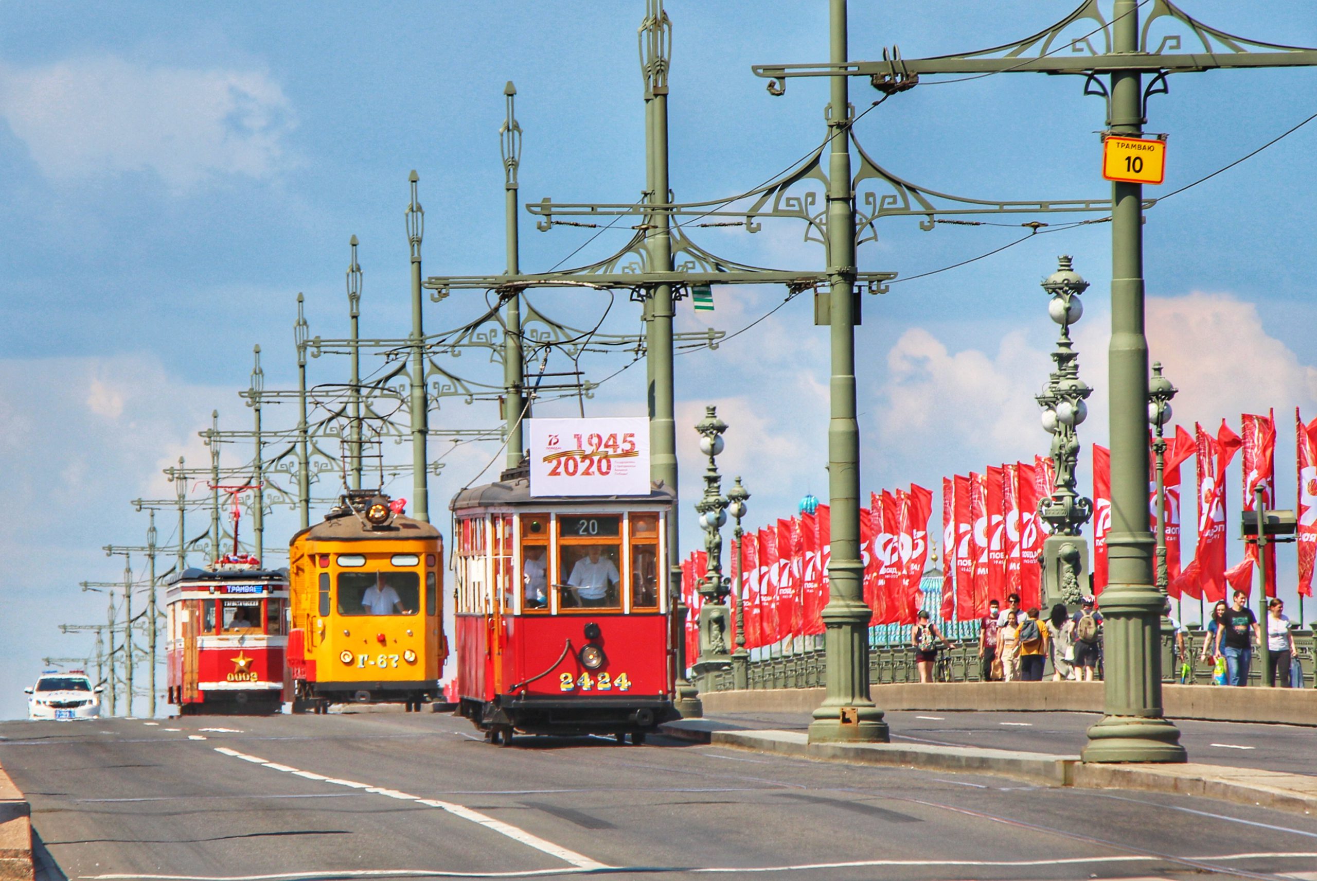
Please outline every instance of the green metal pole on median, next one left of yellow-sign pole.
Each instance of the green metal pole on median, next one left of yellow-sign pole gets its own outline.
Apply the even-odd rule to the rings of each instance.
[[[831,0],[831,62],[847,61],[846,0]],[[810,743],[886,741],[888,724],[869,698],[872,612],[864,604],[860,561],[860,424],[855,400],[855,198],[851,191],[849,82],[832,76],[828,107],[831,155],[827,188],[827,271],[831,283],[831,420],[828,423],[828,502],[832,510],[830,597],[823,608],[826,686],[814,710]]]

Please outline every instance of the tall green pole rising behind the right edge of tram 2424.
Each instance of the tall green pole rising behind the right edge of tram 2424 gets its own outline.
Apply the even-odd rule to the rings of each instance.
[[[647,0],[645,21],[641,25],[641,72],[645,78],[647,167],[652,175],[651,199],[655,204],[668,204],[668,61],[672,22],[664,12],[662,0]],[[655,271],[670,273],[672,217],[664,208],[651,211],[647,220],[645,248]],[[649,385],[649,477],[677,493],[677,415],[673,399],[673,340],[674,317],[670,284],[653,288],[649,302],[649,324],[645,329],[651,367]],[[676,502],[676,499],[674,499]],[[686,680],[685,622],[686,606],[681,601],[681,541],[678,536],[680,502],[673,506],[668,520],[668,593],[674,616],[677,649],[677,683],[674,703],[682,716],[703,715],[699,693]]]

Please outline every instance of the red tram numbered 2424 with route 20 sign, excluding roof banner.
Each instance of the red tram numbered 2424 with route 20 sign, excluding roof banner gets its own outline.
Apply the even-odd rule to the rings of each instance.
[[[452,503],[458,714],[495,743],[643,743],[677,718],[662,578],[673,493],[545,499],[504,478]]]

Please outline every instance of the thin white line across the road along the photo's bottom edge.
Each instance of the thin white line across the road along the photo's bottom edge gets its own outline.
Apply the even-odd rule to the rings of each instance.
[[[1317,852],[1305,853],[1220,853],[1213,856],[1185,856],[1183,860],[1204,863],[1231,863],[1241,860],[1310,860]],[[707,867],[684,869],[689,873],[732,874],[765,872],[818,872],[819,869],[852,869],[868,867],[1004,867],[1029,868],[1044,865],[1101,865],[1106,863],[1159,863],[1162,856],[1080,856],[1052,860],[855,860],[852,863],[811,863],[803,865],[765,865],[753,868]],[[607,867],[605,867],[607,868]],[[661,867],[656,867],[661,868]],[[589,870],[589,869],[587,869]],[[444,872],[436,869],[341,869],[319,872],[277,872],[270,874],[83,874],[84,881],[300,881],[313,878],[379,878],[379,877],[420,877],[420,878],[533,878],[543,876],[576,874],[562,869],[532,869],[525,872]]]

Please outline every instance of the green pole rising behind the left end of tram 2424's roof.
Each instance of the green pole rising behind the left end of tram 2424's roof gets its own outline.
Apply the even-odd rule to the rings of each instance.
[[[507,119],[499,129],[499,146],[503,153],[503,194],[504,217],[507,224],[507,274],[522,271],[520,240],[516,223],[518,179],[522,165],[522,126],[516,122],[516,86],[508,80],[503,88],[507,97]],[[507,467],[522,464],[525,452],[523,423],[529,415],[525,406],[524,353],[522,348],[522,295],[512,294],[503,313],[506,325],[503,333],[503,420],[507,424]]]

